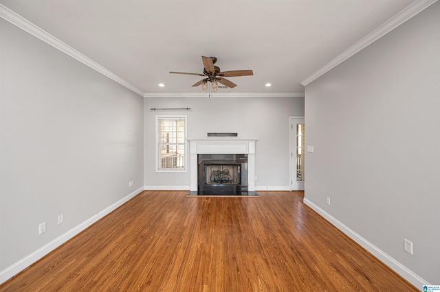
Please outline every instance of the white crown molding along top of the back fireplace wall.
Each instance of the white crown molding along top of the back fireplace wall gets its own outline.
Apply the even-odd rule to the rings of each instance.
[[[144,97],[304,97],[304,93],[145,93]]]

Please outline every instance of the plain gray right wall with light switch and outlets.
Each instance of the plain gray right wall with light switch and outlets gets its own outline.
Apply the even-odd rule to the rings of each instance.
[[[306,199],[431,284],[440,283],[439,16],[437,2],[305,91]]]

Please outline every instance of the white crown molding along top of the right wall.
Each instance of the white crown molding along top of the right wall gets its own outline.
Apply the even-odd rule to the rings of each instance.
[[[402,23],[408,21],[413,16],[425,10],[435,2],[437,2],[437,0],[416,0],[415,2],[411,3],[404,10],[401,10],[401,12],[397,13],[391,19],[386,21],[384,24],[380,25],[380,27],[377,27],[377,29],[373,30],[373,32],[367,34],[360,41],[356,42],[355,45],[349,47],[349,49],[343,51],[339,56],[337,56],[336,58],[325,64],[325,66],[322,66],[315,73],[311,74],[309,77],[303,80],[301,84],[306,86],[310,82],[313,82],[321,75],[324,75],[334,67],[338,66],[339,64],[341,64],[342,62],[353,56],[355,53],[358,53],[360,50],[371,45],[379,38],[382,38],[382,36],[388,34],[388,32],[391,32],[393,29],[395,29]]]

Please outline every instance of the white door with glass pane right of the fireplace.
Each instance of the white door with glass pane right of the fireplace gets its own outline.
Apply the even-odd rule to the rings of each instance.
[[[305,183],[305,124],[304,119],[291,118],[290,119],[291,130],[291,189],[304,190]]]

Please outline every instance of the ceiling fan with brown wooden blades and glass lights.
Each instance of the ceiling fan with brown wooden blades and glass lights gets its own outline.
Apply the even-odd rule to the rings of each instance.
[[[201,85],[202,90],[208,89],[208,82],[211,82],[211,87],[213,91],[217,91],[219,88],[219,83],[224,86],[228,86],[229,88],[234,88],[236,84],[227,80],[224,77],[237,77],[237,76],[250,76],[254,75],[252,70],[235,70],[235,71],[224,71],[221,72],[218,66],[214,66],[215,62],[217,62],[217,58],[215,57],[204,57],[201,56],[201,60],[203,61],[203,74],[199,73],[186,73],[186,72],[170,72],[171,74],[184,74],[184,75],[197,75],[203,76],[203,78],[196,84],[192,85],[192,87],[197,87]]]

